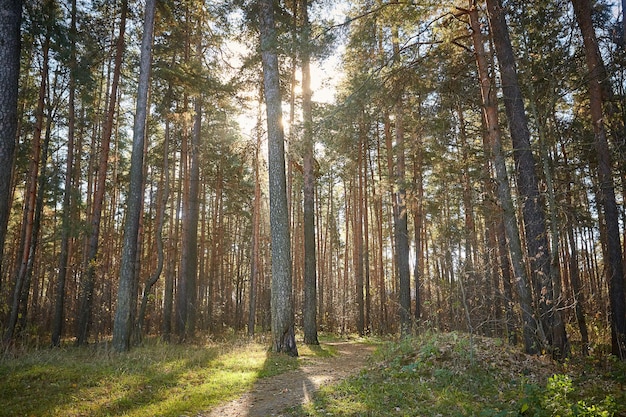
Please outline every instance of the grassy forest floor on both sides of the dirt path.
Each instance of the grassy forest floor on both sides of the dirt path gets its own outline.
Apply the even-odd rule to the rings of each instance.
[[[127,354],[97,345],[4,357],[0,417],[193,416],[238,397],[258,378],[334,355],[328,347],[298,349],[296,359],[259,343],[153,340]],[[498,339],[426,333],[382,343],[366,370],[288,414],[626,417],[625,383],[626,364],[608,356],[559,364]]]

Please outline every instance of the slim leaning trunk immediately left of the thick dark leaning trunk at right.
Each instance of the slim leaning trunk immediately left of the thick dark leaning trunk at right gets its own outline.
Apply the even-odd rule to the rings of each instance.
[[[529,280],[523,260],[522,244],[511,198],[506,163],[504,155],[502,154],[496,90],[489,76],[488,60],[483,44],[483,36],[480,31],[478,9],[476,8],[475,0],[470,0],[469,16],[483,101],[483,118],[487,126],[486,148],[490,157],[493,158],[496,182],[498,184],[498,200],[502,207],[503,223],[509,247],[511,266],[515,275],[515,282],[517,282],[520,307],[522,310],[524,348],[527,353],[538,353],[540,346],[537,343],[537,325],[532,314],[532,297],[530,294]]]

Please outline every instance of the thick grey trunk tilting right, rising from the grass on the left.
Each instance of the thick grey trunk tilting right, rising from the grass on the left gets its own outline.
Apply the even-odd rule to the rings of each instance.
[[[141,56],[139,63],[139,85],[137,87],[137,106],[133,126],[133,146],[130,162],[130,185],[126,202],[126,223],[124,225],[124,246],[120,267],[120,281],[117,290],[117,307],[113,326],[113,348],[118,352],[130,349],[131,332],[137,293],[137,240],[139,238],[139,219],[143,201],[143,157],[148,118],[148,89],[150,87],[150,67],[152,64],[152,34],[156,0],[146,0]]]

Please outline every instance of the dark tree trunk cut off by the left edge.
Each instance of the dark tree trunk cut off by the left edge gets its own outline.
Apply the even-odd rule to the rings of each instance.
[[[20,72],[22,2],[0,1],[0,290],[2,259],[11,212],[11,181],[17,134],[17,98]]]

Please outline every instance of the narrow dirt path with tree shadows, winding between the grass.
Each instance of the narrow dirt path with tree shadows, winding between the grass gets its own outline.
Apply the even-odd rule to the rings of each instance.
[[[260,379],[252,391],[198,417],[268,417],[311,400],[322,385],[358,372],[374,351],[354,342],[330,343],[337,349],[332,358],[307,357],[296,370]]]

